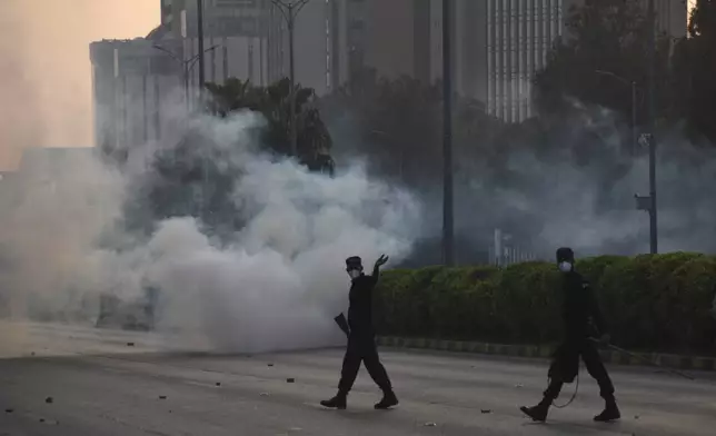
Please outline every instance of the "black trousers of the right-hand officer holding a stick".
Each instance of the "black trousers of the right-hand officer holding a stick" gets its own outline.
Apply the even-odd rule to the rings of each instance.
[[[564,384],[574,382],[579,373],[579,357],[584,360],[589,375],[597,380],[601,398],[614,400],[614,385],[607,368],[601,363],[596,345],[589,339],[568,340],[557,348],[549,367],[550,382],[545,390],[545,398],[557,398]]]

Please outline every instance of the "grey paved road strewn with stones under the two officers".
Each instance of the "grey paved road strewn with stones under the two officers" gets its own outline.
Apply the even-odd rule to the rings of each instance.
[[[539,398],[541,361],[382,350],[401,405],[374,410],[379,393],[364,369],[349,409],[336,412],[317,403],[335,392],[338,349],[166,354],[153,353],[161,347],[151,335],[51,328],[52,337],[39,335],[38,327],[30,330],[23,346],[16,341],[14,355],[6,350],[0,358],[2,436],[713,436],[716,428],[713,375],[695,374],[698,382],[689,382],[650,369],[613,368],[625,416],[611,425],[591,422],[601,403],[585,375],[577,400],[539,425],[517,407]]]

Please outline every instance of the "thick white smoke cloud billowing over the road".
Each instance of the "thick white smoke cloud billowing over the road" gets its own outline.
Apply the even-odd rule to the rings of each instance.
[[[160,290],[157,329],[199,333],[215,349],[340,340],[332,318],[348,304],[344,260],[407,256],[419,204],[360,167],[329,178],[262,155],[250,133],[258,122],[250,113],[188,122],[191,146],[221,151],[227,161],[215,164],[233,177],[231,201],[245,225],[221,237],[191,217],[155,222],[146,237],[126,230],[123,206],[158,177],[147,169],[151,145],[136,148],[140,158],[123,171],[89,150],[51,159],[57,174],[28,159],[14,204],[2,207],[11,315],[92,318],[100,295],[131,300],[152,287]]]

